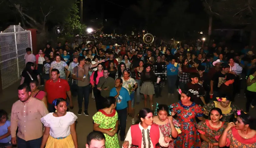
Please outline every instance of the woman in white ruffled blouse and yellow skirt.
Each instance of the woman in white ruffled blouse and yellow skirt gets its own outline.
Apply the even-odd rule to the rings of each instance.
[[[78,148],[75,129],[77,116],[73,112],[67,112],[65,99],[58,98],[52,103],[56,111],[41,118],[44,134],[40,148]]]

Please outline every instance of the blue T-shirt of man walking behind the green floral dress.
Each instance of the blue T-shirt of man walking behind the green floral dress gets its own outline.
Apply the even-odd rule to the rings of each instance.
[[[110,90],[110,96],[117,95],[115,87]],[[124,87],[119,91],[119,96],[116,98],[116,110],[122,110],[127,108],[127,102],[131,100],[129,92]]]

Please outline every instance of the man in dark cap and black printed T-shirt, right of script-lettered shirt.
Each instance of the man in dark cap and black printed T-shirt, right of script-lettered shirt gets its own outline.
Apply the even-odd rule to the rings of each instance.
[[[213,94],[213,98],[218,97],[219,87],[226,81],[227,73],[229,73],[230,65],[223,64],[222,70],[213,75],[210,82],[210,94]]]

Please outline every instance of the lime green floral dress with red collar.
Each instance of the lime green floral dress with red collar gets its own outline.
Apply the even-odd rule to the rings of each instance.
[[[99,124],[99,128],[113,131],[115,129],[116,121],[118,120],[118,115],[115,110],[111,114],[107,114],[103,110],[99,110],[93,115],[93,122]],[[117,139],[117,134],[110,137],[108,134],[104,133],[106,138],[106,148],[120,148],[119,141]]]

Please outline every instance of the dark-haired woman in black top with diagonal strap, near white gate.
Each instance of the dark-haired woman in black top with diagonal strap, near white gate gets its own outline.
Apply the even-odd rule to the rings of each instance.
[[[26,83],[29,86],[29,83],[33,80],[38,81],[38,85],[40,86],[40,75],[37,72],[37,70],[35,70],[35,63],[33,62],[27,62],[25,69],[22,71],[21,74],[21,83]]]

